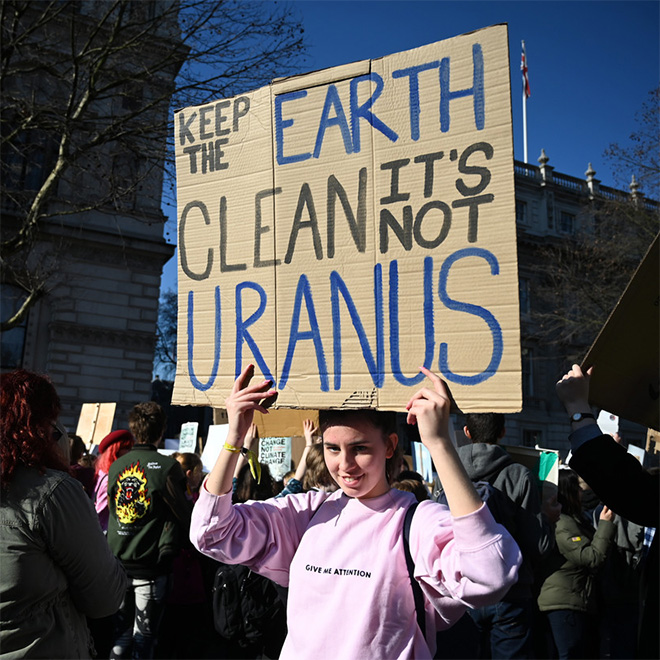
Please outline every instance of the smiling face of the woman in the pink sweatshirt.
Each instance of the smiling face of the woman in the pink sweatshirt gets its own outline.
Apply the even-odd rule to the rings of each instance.
[[[349,497],[368,499],[390,489],[385,461],[394,453],[396,433],[384,438],[380,429],[356,420],[350,426],[330,426],[323,434],[328,471]]]

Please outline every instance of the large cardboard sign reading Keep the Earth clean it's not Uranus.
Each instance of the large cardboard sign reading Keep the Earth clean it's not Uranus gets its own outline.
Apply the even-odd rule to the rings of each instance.
[[[521,409],[506,25],[175,116],[173,403],[248,363],[282,408]]]

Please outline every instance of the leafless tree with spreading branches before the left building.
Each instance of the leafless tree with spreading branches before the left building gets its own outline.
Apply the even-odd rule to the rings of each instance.
[[[271,2],[4,0],[0,20],[7,283],[52,223],[94,210],[163,222],[174,175],[171,109],[262,86],[296,72],[304,56],[292,7]],[[33,275],[26,311],[47,290]]]

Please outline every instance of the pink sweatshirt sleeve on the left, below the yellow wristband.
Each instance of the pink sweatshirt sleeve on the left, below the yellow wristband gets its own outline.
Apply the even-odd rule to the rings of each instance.
[[[190,540],[225,564],[243,564],[282,586],[300,539],[326,493],[232,504],[231,493],[212,495],[204,484],[193,509]]]

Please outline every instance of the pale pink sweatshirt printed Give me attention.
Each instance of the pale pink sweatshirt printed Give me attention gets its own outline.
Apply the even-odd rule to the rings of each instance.
[[[417,625],[403,551],[411,493],[358,500],[339,490],[232,506],[205,487],[190,538],[204,554],[245,564],[289,587],[282,660],[431,658],[435,630],[466,607],[495,603],[516,581],[521,556],[484,505],[453,518],[436,502],[413,517],[410,552],[425,594],[427,640]]]

